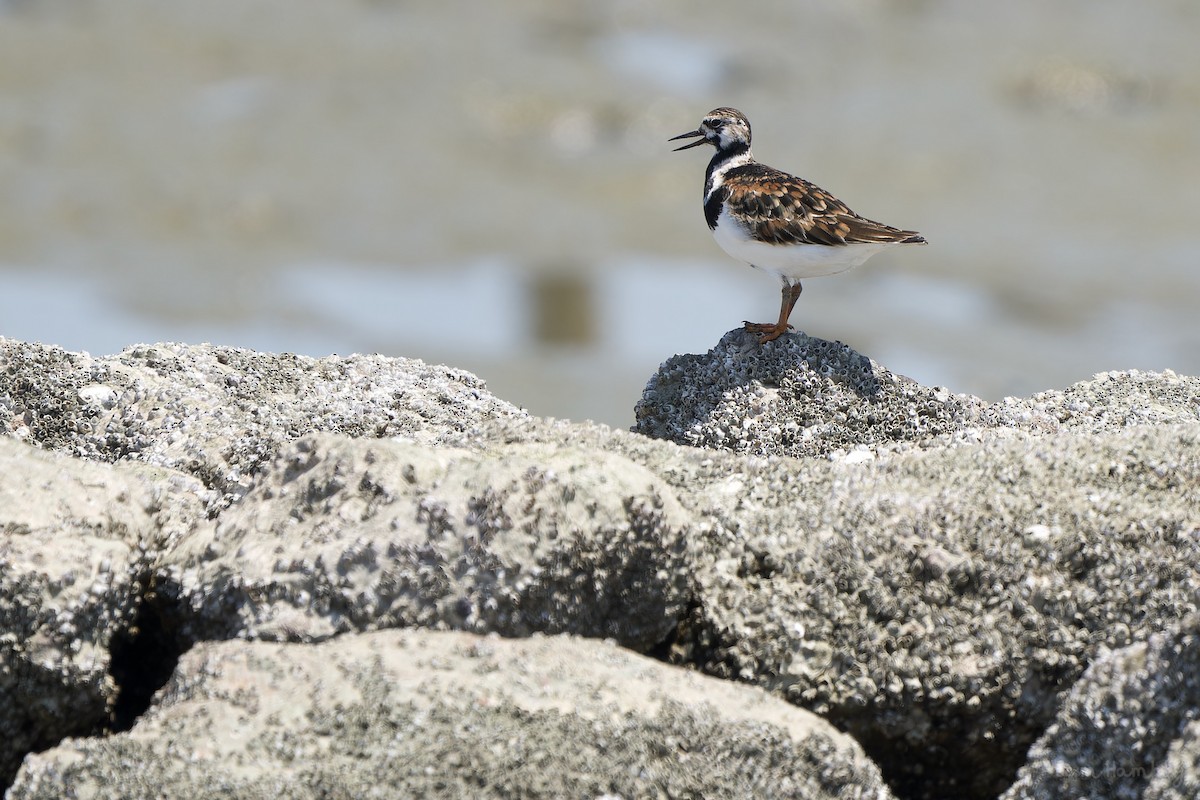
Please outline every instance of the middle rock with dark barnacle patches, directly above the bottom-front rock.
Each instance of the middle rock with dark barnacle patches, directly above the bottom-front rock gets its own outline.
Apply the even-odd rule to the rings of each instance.
[[[172,548],[160,593],[187,609],[188,640],[418,625],[644,650],[690,597],[690,528],[662,481],[618,455],[322,434]]]

